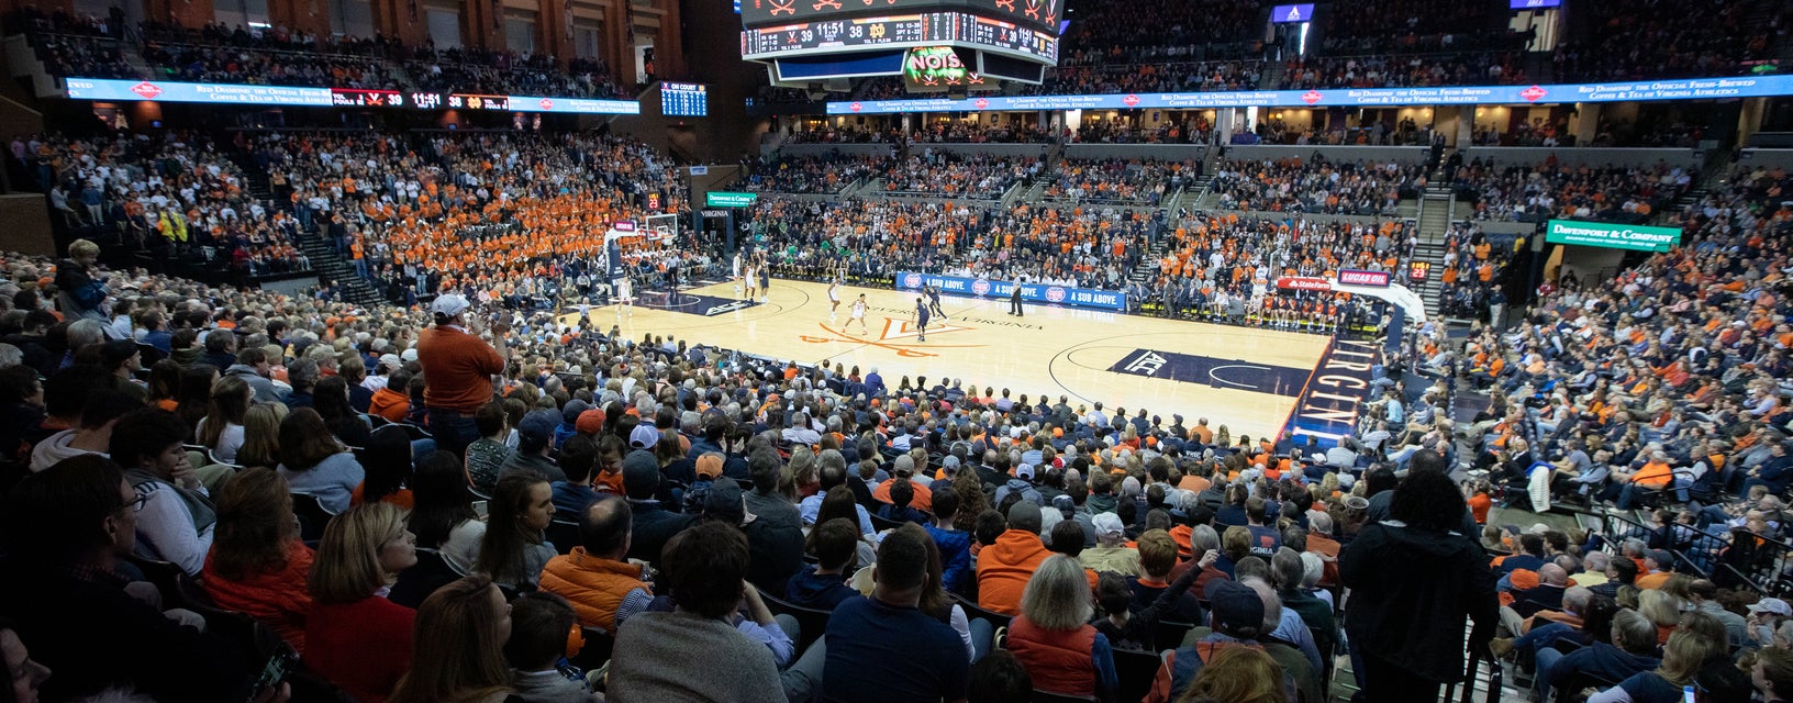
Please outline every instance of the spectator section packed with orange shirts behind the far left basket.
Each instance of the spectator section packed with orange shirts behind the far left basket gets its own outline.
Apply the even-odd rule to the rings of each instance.
[[[271,133],[249,149],[299,226],[398,301],[545,296],[561,273],[592,271],[611,222],[689,197],[665,156],[613,136]]]

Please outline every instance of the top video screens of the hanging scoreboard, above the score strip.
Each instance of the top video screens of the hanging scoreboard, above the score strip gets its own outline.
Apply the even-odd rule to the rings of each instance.
[[[875,14],[956,11],[1058,36],[1065,0],[741,0],[742,27],[793,25]]]

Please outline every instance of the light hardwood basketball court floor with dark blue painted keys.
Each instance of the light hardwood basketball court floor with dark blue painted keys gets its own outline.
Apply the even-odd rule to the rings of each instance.
[[[965,387],[1008,387],[1013,396],[1069,396],[1070,405],[1103,404],[1130,414],[1146,407],[1171,423],[1210,418],[1234,438],[1275,434],[1295,407],[1330,337],[1228,325],[1137,317],[1083,308],[1026,305],[1008,316],[1008,299],[941,298],[948,319],[932,319],[927,341],[914,328],[914,294],[841,289],[828,319],[823,283],[775,280],[771,301],[735,308],[733,285],[715,283],[640,296],[633,316],[617,321],[593,308],[592,323],[622,326],[629,339],[674,335],[798,362],[873,366],[896,387],[902,377],[963,378]],[[853,299],[864,292],[866,330],[846,328]],[[568,316],[568,321],[576,319]]]

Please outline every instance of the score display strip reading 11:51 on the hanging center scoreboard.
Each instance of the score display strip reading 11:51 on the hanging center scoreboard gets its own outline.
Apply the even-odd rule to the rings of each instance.
[[[1044,65],[1058,63],[1056,34],[965,13],[819,20],[741,32],[741,57],[749,61],[938,45],[983,48]]]

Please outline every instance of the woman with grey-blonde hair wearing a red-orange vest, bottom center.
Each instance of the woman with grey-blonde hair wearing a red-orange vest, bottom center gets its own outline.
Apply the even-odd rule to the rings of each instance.
[[[1076,558],[1054,554],[1033,572],[1006,649],[1027,667],[1035,689],[1113,698],[1121,680],[1108,637],[1090,626],[1094,612],[1090,581]]]

